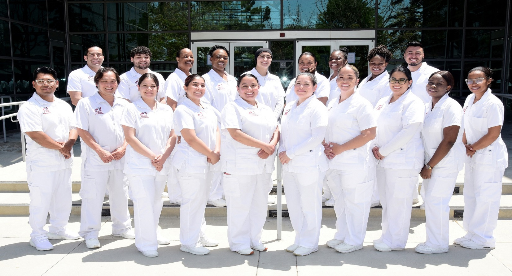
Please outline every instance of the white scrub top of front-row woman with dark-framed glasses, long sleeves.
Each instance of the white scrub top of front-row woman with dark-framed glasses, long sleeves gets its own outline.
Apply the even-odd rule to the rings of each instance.
[[[378,148],[391,142],[403,126],[414,123],[423,124],[425,105],[421,99],[411,93],[411,90],[407,90],[393,103],[389,103],[391,97],[393,94],[380,99],[374,109],[377,116],[377,134],[374,142]],[[420,131],[421,127],[405,145],[379,160],[379,166],[389,169],[422,168],[424,152]]]

